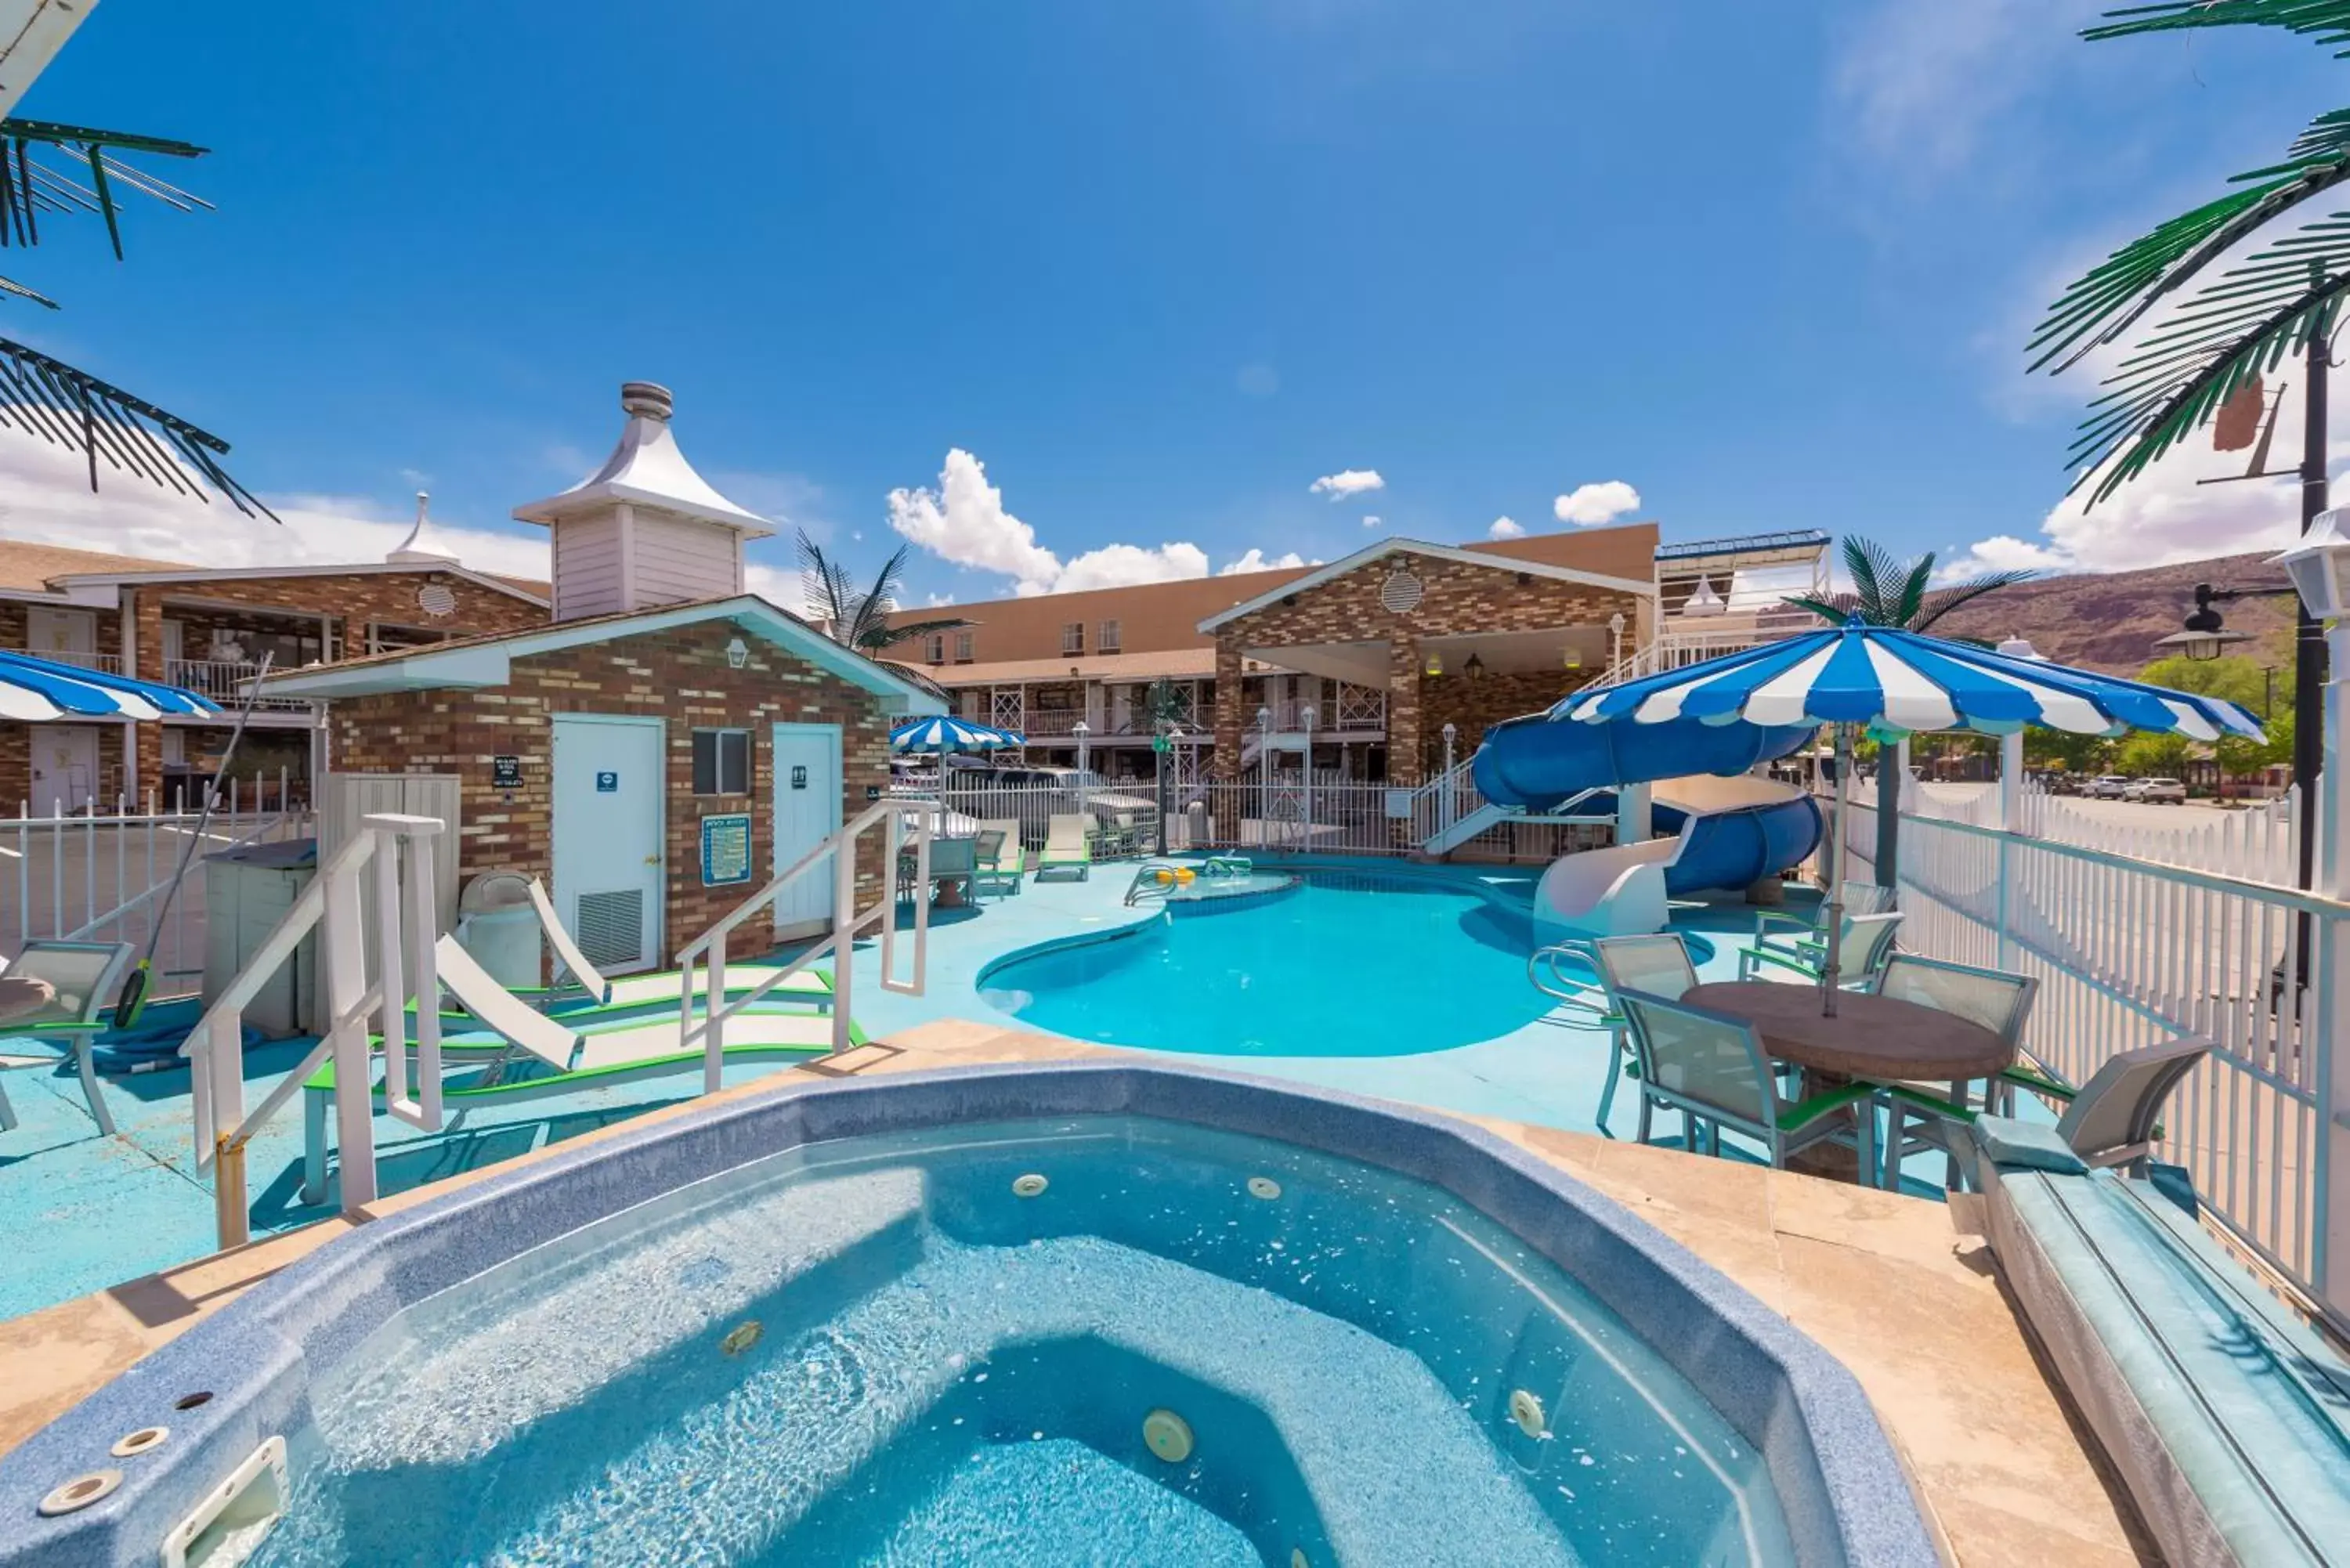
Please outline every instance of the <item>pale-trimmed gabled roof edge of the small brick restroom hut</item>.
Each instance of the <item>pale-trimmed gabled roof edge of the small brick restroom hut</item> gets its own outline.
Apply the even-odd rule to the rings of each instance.
[[[423,649],[369,654],[331,665],[284,670],[282,675],[270,675],[266,686],[270,696],[317,701],[374,696],[381,691],[439,691],[451,686],[479,691],[503,686],[512,677],[517,658],[620,642],[623,637],[700,625],[703,621],[733,621],[745,632],[764,637],[787,654],[841,677],[851,686],[891,698],[893,715],[947,710],[935,691],[926,691],[924,684],[893,672],[888,665],[844,649],[799,616],[776,609],[754,592],[726,599],[698,599],[693,604],[663,604],[660,609],[630,609],[611,616],[580,616],[578,621],[557,621],[524,632],[491,632],[486,637],[435,642]]]

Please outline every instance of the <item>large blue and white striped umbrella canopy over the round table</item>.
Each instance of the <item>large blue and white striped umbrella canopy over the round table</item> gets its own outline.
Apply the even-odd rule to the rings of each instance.
[[[1859,621],[1622,686],[1577,691],[1551,708],[1551,717],[1579,724],[1875,724],[1990,736],[2040,724],[2080,736],[2146,729],[2188,741],[2228,733],[2261,738],[2258,719],[2214,696]]]

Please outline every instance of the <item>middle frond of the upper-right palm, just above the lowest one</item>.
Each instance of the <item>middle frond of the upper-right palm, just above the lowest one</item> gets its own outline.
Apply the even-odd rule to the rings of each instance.
[[[2023,353],[2030,369],[2061,374],[2117,341],[2174,289],[2301,202],[2350,181],[2350,108],[2319,115],[2287,162],[2237,174],[2242,186],[2131,240],[2049,306]]]

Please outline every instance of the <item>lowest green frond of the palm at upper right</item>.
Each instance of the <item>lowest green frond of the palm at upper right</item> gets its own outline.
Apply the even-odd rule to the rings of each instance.
[[[2103,470],[2099,503],[2202,428],[2240,386],[2310,339],[2326,339],[2350,289],[2350,214],[2254,254],[2178,306],[2106,381],[2068,463],[2075,487]]]

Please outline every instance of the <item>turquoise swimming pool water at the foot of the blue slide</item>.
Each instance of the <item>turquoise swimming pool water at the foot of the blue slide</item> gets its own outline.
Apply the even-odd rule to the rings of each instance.
[[[1459,872],[1297,875],[1276,898],[1010,954],[980,971],[980,997],[1069,1039],[1203,1056],[1448,1051],[1551,1011],[1525,978],[1520,900]]]

